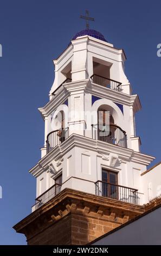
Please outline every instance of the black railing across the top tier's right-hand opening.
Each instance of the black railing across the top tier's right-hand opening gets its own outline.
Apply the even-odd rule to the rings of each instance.
[[[117,92],[121,92],[121,83],[118,81],[98,75],[92,75],[91,80],[99,86],[104,86],[106,88],[116,90]]]

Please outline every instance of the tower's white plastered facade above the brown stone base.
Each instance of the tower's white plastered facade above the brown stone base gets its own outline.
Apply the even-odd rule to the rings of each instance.
[[[39,108],[45,123],[44,147],[41,160],[30,170],[37,180],[36,197],[53,186],[61,173],[61,190],[68,187],[95,194],[95,182],[102,180],[104,168],[118,173],[118,185],[138,190],[139,204],[148,202],[146,186],[150,181],[145,182],[141,173],[154,157],[140,153],[134,115],[141,106],[124,73],[125,60],[123,50],[88,35],[73,40],[54,60],[50,100]],[[91,78],[93,74],[96,78]],[[101,77],[106,77],[110,86],[102,86],[105,80]],[[111,87],[112,83],[117,84],[115,81],[121,83],[119,91]],[[119,144],[117,138],[114,143],[100,141],[97,123],[98,109],[102,108],[112,115],[114,133],[118,131],[119,136],[124,136],[122,131],[126,132],[127,147]],[[60,139],[59,131],[53,131],[61,130],[62,124],[64,135]],[[49,144],[52,150],[48,149]],[[160,179],[159,172],[158,175]]]

